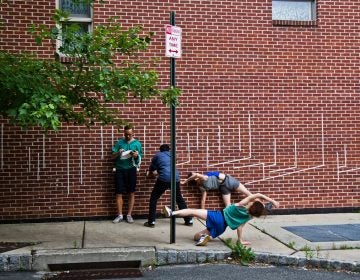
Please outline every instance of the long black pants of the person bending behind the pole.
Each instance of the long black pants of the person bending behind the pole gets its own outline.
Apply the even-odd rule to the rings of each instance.
[[[155,186],[151,192],[150,202],[149,202],[149,216],[148,216],[148,223],[151,224],[155,222],[156,219],[156,205],[158,199],[161,195],[167,190],[170,189],[171,184],[169,182],[164,182],[159,179],[156,180]],[[184,198],[181,195],[180,191],[180,182],[176,182],[176,204],[179,209],[186,209],[187,205]],[[191,221],[192,217],[184,217],[185,223]]]

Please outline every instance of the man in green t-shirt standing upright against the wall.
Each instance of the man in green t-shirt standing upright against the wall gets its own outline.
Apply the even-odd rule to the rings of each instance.
[[[112,158],[115,160],[115,193],[118,216],[113,223],[124,220],[123,195],[129,194],[128,214],[126,221],[133,223],[132,211],[135,204],[137,171],[141,163],[142,147],[140,141],[134,138],[133,127],[124,127],[124,138],[120,138],[112,149]]]

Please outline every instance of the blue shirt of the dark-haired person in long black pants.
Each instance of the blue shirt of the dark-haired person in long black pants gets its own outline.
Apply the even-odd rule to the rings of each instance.
[[[157,152],[151,160],[149,171],[157,171],[158,179],[167,183],[171,182],[171,155],[170,151]],[[179,171],[175,170],[176,182],[180,181]]]

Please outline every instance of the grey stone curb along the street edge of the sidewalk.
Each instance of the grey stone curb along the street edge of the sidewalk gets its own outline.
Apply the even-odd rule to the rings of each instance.
[[[124,249],[130,250],[125,251]],[[216,262],[216,261],[226,261],[231,256],[230,250],[174,250],[174,249],[156,249],[154,247],[144,248],[99,248],[99,249],[67,249],[67,250],[56,250],[57,256],[62,255],[66,258],[72,256],[74,258],[74,253],[76,250],[80,255],[92,254],[97,257],[98,260],[106,260],[109,256],[114,256],[114,254],[124,254],[134,255],[136,253],[147,251],[147,259],[152,259],[152,261],[143,262],[144,266],[148,265],[174,265],[174,264],[197,264],[197,263],[207,263],[207,262]],[[85,251],[87,250],[87,252]],[[41,250],[39,250],[41,251]],[[42,250],[45,251],[45,250]],[[46,250],[47,252],[43,253],[42,256],[47,255],[49,258],[55,257],[55,255],[50,254],[51,250]],[[54,250],[55,251],[55,250]],[[96,253],[95,253],[96,251]],[[67,253],[68,254],[67,254]],[[54,252],[55,253],[55,252]],[[39,255],[39,252],[34,252],[31,254],[0,254],[0,272],[1,271],[30,271],[36,269],[36,257]],[[271,253],[262,253],[255,252],[256,262],[262,264],[269,264],[275,266],[296,266],[296,267],[307,267],[307,268],[320,268],[320,269],[330,269],[330,270],[345,270],[351,272],[360,272],[360,262],[346,262],[346,261],[337,261],[337,260],[327,260],[320,258],[311,258],[306,259],[298,256],[288,256],[281,254],[271,254]],[[39,268],[44,268],[38,267]]]

